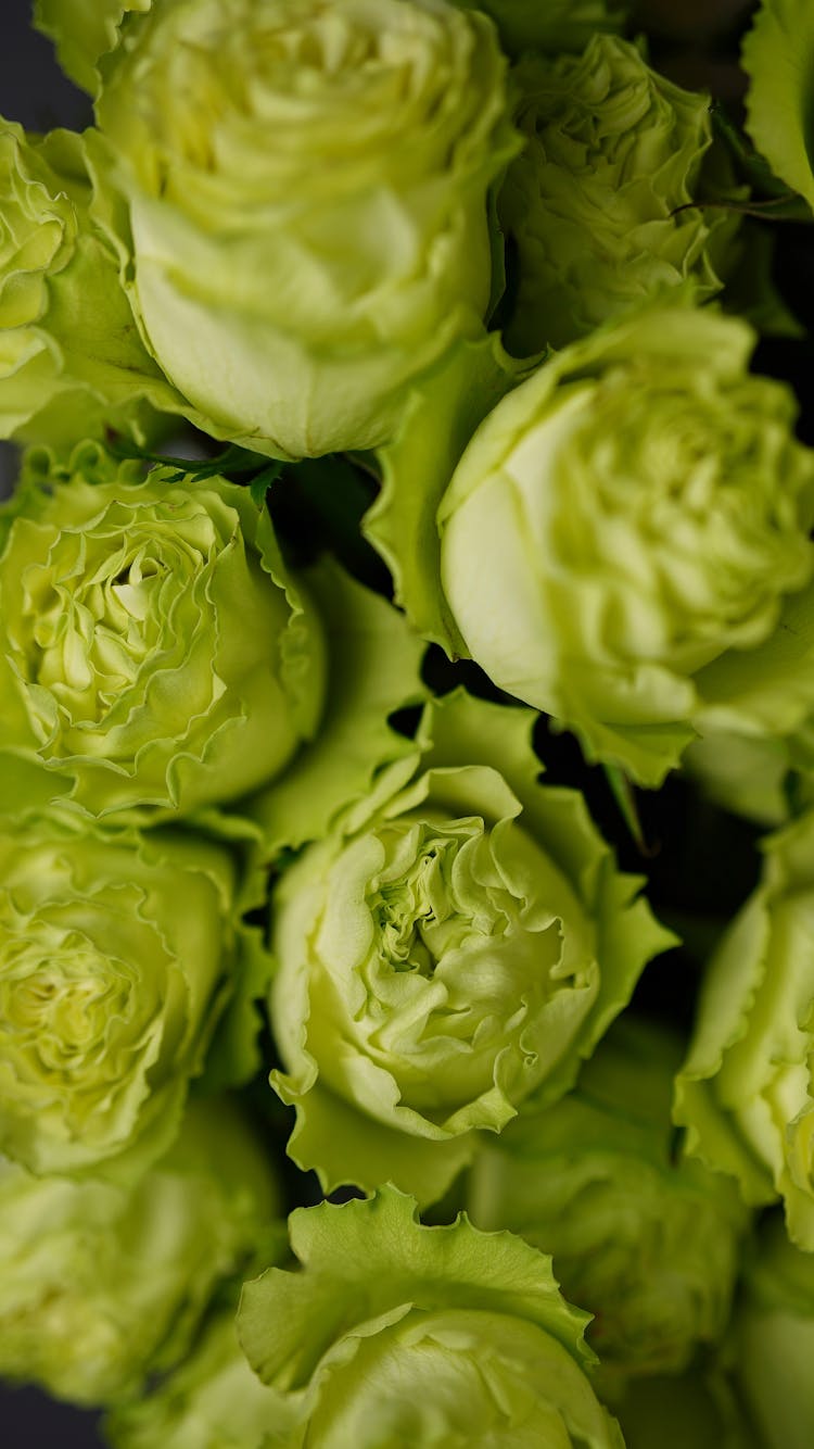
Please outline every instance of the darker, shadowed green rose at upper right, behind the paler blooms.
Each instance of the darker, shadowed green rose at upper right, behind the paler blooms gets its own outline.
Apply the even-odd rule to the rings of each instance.
[[[561,348],[669,288],[718,291],[737,214],[705,212],[710,99],[674,85],[618,36],[514,71],[526,139],[498,197],[516,249],[510,352]],[[729,187],[731,191],[731,185]]]

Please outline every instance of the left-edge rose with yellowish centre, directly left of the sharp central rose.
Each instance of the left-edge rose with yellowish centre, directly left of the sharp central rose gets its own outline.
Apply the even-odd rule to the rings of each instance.
[[[0,1148],[132,1178],[172,1142],[252,969],[232,855],[64,820],[0,829]]]

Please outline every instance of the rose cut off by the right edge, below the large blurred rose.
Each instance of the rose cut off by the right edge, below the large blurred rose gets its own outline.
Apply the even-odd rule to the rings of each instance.
[[[763,880],[724,936],[678,1077],[688,1148],[784,1200],[791,1239],[814,1252],[814,816],[765,845]]]

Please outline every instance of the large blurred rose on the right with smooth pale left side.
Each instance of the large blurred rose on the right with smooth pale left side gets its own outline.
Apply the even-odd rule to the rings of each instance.
[[[697,732],[811,714],[814,454],[752,346],[689,307],[600,329],[498,403],[440,500],[448,648],[642,784]],[[410,611],[433,546],[401,539]]]

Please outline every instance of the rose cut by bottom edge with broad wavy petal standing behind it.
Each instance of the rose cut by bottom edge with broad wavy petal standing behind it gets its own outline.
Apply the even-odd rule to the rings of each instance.
[[[550,1259],[465,1217],[421,1227],[393,1188],[290,1217],[301,1272],[246,1284],[249,1362],[298,1424],[274,1449],[623,1449]]]

